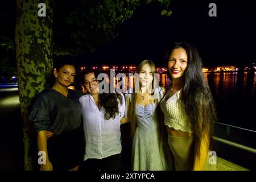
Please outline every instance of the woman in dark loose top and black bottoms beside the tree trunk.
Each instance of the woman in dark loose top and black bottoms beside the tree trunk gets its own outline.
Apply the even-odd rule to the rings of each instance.
[[[62,62],[54,68],[55,83],[44,89],[32,107],[30,120],[38,133],[38,150],[46,152],[40,170],[77,170],[84,156],[82,92],[69,90],[75,67]],[[54,133],[47,140],[48,131]]]

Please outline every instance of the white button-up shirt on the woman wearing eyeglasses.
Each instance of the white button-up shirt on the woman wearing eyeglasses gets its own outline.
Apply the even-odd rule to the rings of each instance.
[[[122,151],[120,120],[125,114],[125,97],[122,95],[122,105],[118,104],[119,114],[106,120],[104,109],[98,109],[90,94],[80,97],[84,119],[85,155],[86,159],[102,159]]]

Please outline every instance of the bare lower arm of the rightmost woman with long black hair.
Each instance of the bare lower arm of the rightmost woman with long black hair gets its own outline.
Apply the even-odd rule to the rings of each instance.
[[[198,142],[198,140],[196,141]],[[196,145],[197,146],[197,145]],[[202,171],[204,164],[207,163],[207,157],[209,152],[209,137],[207,134],[203,135],[200,142],[200,156],[195,152],[193,171]]]

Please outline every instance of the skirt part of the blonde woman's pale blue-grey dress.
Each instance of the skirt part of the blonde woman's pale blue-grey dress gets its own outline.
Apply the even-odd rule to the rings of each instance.
[[[157,130],[137,127],[133,139],[131,167],[134,171],[174,170],[171,150],[167,141],[158,144]]]

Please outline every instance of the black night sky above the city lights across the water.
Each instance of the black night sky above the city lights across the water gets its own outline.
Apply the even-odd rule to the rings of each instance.
[[[93,63],[133,63],[144,59],[165,65],[166,47],[180,40],[193,44],[204,66],[254,63],[256,6],[253,1],[171,1],[172,15],[160,15],[157,4],[140,7],[118,27],[112,43],[79,58]],[[210,17],[209,3],[217,5]]]

